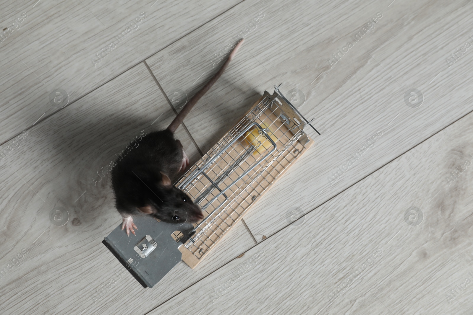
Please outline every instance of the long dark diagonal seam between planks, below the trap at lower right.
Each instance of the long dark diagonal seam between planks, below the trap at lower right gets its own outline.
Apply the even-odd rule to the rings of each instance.
[[[403,156],[405,153],[408,153],[408,152],[411,151],[412,149],[416,148],[417,146],[421,145],[421,144],[424,143],[425,141],[429,140],[432,136],[437,135],[437,134],[438,134],[439,132],[441,132],[442,130],[444,130],[444,129],[450,127],[450,126],[453,125],[455,122],[457,122],[458,120],[460,120],[460,119],[464,118],[465,116],[471,114],[472,112],[473,112],[473,110],[467,112],[466,114],[464,114],[464,115],[461,116],[460,118],[455,119],[453,122],[451,122],[450,124],[448,124],[448,125],[445,126],[444,128],[441,128],[440,130],[438,130],[437,132],[433,133],[433,134],[430,135],[429,137],[427,137],[427,138],[425,138],[424,140],[420,141],[417,145],[412,146],[412,148],[407,149],[406,151],[404,151],[403,153],[401,153],[401,154],[399,154],[398,156],[394,157],[392,160],[386,162],[385,164],[381,165],[379,168],[377,168],[376,170],[372,171],[372,172],[369,173],[368,175],[364,176],[363,178],[357,180],[356,182],[354,182],[354,183],[351,184],[350,186],[346,187],[345,189],[343,189],[342,191],[340,191],[340,192],[337,193],[336,195],[330,197],[329,199],[325,200],[325,201],[322,202],[321,204],[315,206],[312,210],[309,210],[309,211],[306,213],[306,215],[307,215],[308,213],[311,213],[311,212],[314,211],[315,209],[320,208],[321,206],[323,206],[324,204],[328,203],[330,200],[332,200],[332,199],[335,198],[336,196],[342,194],[343,192],[345,192],[345,191],[348,190],[349,188],[355,186],[356,184],[358,184],[358,183],[359,183],[360,181],[362,181],[363,179],[366,179],[368,176],[372,175],[373,173],[376,173],[378,170],[381,170],[381,169],[382,169],[383,167],[385,167],[387,164],[389,164],[389,163],[393,162],[394,160],[398,159],[399,157]],[[301,216],[299,219],[290,222],[288,225],[283,226],[282,228],[280,228],[279,230],[275,231],[273,234],[271,234],[271,235],[268,236],[267,238],[263,239],[263,240],[262,240],[261,242],[259,242],[258,244],[255,244],[254,246],[248,248],[247,250],[245,250],[245,251],[244,251],[243,253],[241,253],[241,254],[246,253],[247,251],[249,251],[249,250],[253,249],[254,247],[258,246],[259,244],[263,243],[264,241],[266,241],[266,240],[272,238],[274,235],[276,235],[276,234],[278,234],[280,231],[286,229],[287,227],[289,227],[289,225],[291,225],[292,223],[294,223],[294,222],[300,220],[301,218],[305,218],[305,216]],[[242,221],[243,221],[243,218],[242,218]],[[241,254],[240,254],[240,255],[241,255]],[[236,258],[236,257],[235,257],[235,258]],[[181,293],[184,292],[185,290],[189,289],[189,288],[192,287],[193,285],[197,284],[198,282],[200,282],[200,281],[202,281],[203,279],[205,279],[205,278],[207,278],[208,276],[210,276],[212,273],[218,271],[218,270],[221,269],[222,267],[224,267],[224,266],[226,266],[227,264],[229,264],[230,262],[234,261],[235,258],[230,259],[227,263],[221,265],[220,267],[218,267],[218,268],[215,269],[214,271],[212,271],[212,272],[210,272],[209,274],[205,275],[205,276],[202,277],[201,279],[195,281],[193,284],[190,284],[189,286],[187,286],[186,288],[182,289],[181,291],[179,291],[178,293],[176,293],[176,294],[173,295],[172,297],[170,297],[170,298],[166,299],[165,301],[163,301],[163,302],[162,302],[161,304],[159,304],[158,306],[156,306],[156,307],[150,309],[148,312],[144,313],[143,315],[148,315],[151,311],[157,309],[159,306],[165,304],[167,301],[169,301],[169,300],[171,300],[172,298],[178,296],[179,294],[181,294]]]

